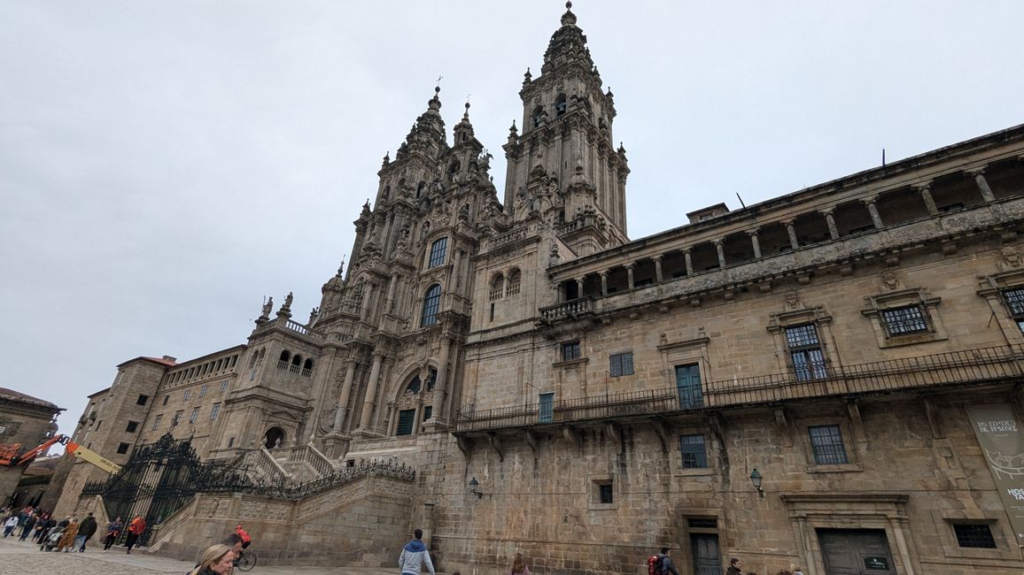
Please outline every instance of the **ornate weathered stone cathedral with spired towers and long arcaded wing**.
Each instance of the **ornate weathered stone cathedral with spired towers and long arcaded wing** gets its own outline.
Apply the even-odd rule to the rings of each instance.
[[[435,91],[306,322],[289,295],[237,347],[119,365],[76,441],[411,466],[398,529],[446,571],[1024,569],[1024,126],[631,240],[613,95],[560,24],[504,190]]]

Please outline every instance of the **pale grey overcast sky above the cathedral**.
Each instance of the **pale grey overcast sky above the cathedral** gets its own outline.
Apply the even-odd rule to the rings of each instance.
[[[0,387],[68,409],[122,361],[305,321],[443,76],[493,152],[556,1],[0,0]],[[1024,2],[573,12],[615,94],[632,238],[1021,122]],[[518,123],[518,122],[517,122]]]

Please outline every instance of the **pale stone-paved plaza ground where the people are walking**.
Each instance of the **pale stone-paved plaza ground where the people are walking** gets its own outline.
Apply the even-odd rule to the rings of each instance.
[[[397,564],[397,558],[395,558]],[[187,573],[193,567],[188,562],[146,555],[135,550],[131,555],[124,547],[114,547],[101,552],[86,547],[84,554],[42,552],[39,545],[17,541],[14,537],[0,539],[0,573],[53,573],[59,575],[155,575],[160,573]],[[372,569],[364,567],[287,567],[257,565],[253,575],[395,575],[398,568]]]

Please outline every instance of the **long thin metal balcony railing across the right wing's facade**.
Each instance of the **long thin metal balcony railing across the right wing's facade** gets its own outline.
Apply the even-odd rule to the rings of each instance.
[[[612,395],[562,399],[481,411],[460,411],[456,433],[721,409],[827,396],[857,396],[944,385],[981,385],[1021,378],[1024,346],[1012,345],[708,382]],[[820,374],[823,377],[812,377]]]

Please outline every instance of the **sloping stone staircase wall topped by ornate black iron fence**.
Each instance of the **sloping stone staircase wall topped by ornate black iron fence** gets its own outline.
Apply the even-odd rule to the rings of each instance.
[[[412,491],[369,477],[299,501],[200,494],[155,529],[152,550],[194,561],[241,523],[260,564],[392,567],[410,538]]]

